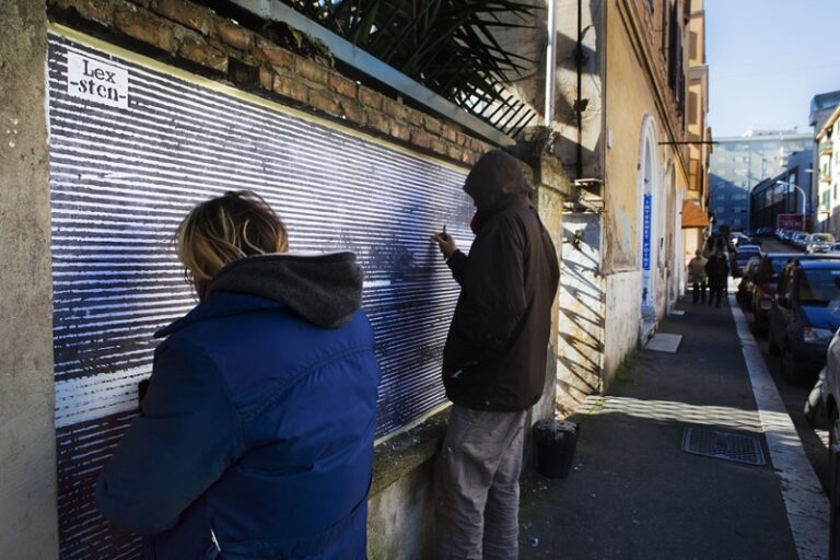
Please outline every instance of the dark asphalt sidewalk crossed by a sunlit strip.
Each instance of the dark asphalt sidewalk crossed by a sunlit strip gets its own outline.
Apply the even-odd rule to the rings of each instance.
[[[658,329],[682,335],[677,352],[634,353],[582,407],[570,477],[523,481],[521,558],[800,558],[732,311],[677,308]],[[687,427],[758,434],[767,464],[686,453]]]

